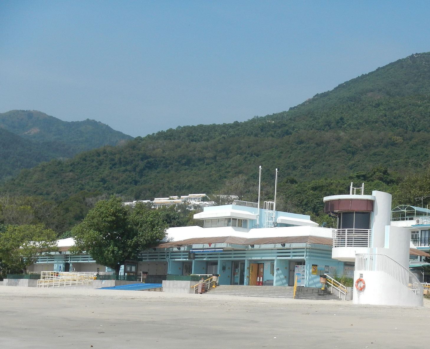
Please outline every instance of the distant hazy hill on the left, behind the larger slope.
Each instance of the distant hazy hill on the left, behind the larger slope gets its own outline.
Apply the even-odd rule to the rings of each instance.
[[[0,113],[0,131],[0,180],[42,161],[71,158],[81,151],[132,139],[95,120],[67,122],[25,110]]]

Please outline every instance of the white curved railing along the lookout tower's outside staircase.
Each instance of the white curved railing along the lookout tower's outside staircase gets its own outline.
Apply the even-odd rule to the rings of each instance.
[[[411,290],[419,299],[423,299],[423,286],[418,278],[385,254],[357,253],[355,269],[359,271],[385,272]]]

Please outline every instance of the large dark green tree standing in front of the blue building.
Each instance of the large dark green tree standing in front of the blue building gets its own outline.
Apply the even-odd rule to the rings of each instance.
[[[139,253],[158,244],[166,235],[167,225],[156,210],[137,204],[124,207],[112,196],[89,210],[83,222],[72,229],[76,241],[74,253],[88,253],[99,264],[115,269],[127,260],[139,260]]]

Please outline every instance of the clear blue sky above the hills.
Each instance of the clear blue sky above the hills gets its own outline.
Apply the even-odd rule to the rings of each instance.
[[[0,0],[0,112],[132,136],[264,116],[430,51],[427,1]]]

